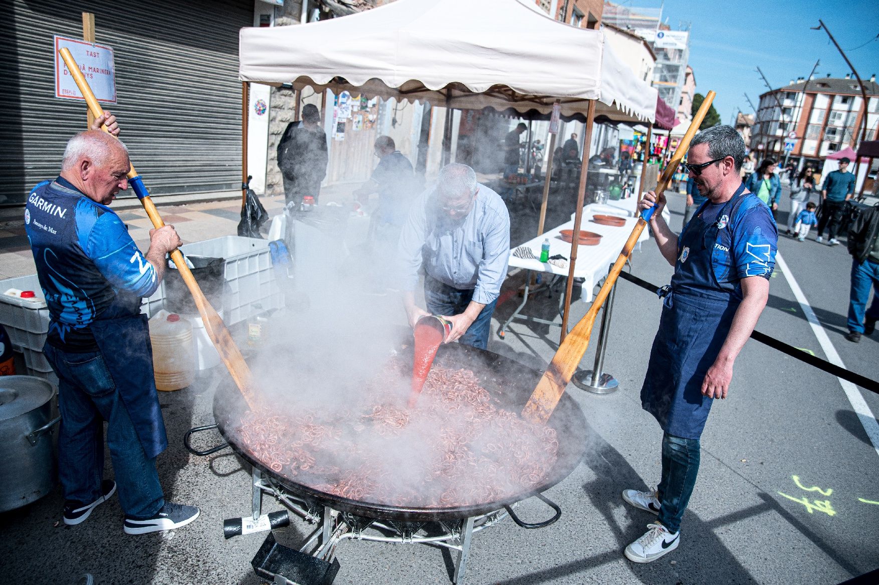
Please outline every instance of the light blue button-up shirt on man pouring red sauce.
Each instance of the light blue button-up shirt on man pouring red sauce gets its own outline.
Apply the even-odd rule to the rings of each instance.
[[[510,255],[510,215],[504,200],[478,185],[467,216],[452,219],[439,208],[432,187],[412,204],[400,235],[403,291],[418,286],[418,271],[454,289],[473,289],[476,303],[498,298]]]

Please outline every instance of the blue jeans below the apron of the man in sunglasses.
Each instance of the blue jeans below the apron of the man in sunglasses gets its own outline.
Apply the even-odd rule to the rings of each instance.
[[[657,498],[662,508],[659,523],[669,532],[680,530],[686,504],[696,485],[699,473],[699,439],[684,439],[665,433],[662,437],[662,480]]]

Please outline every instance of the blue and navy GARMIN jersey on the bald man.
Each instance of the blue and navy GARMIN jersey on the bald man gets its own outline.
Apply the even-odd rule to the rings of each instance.
[[[25,230],[49,310],[47,341],[62,351],[97,351],[92,321],[137,314],[158,288],[119,216],[62,177],[33,188]]]

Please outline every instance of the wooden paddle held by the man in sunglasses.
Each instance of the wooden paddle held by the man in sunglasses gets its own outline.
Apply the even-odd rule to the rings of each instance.
[[[671,182],[672,176],[678,169],[681,159],[684,157],[686,150],[690,147],[690,141],[693,140],[693,136],[699,130],[699,126],[705,118],[705,114],[708,113],[708,106],[711,106],[711,102],[714,100],[715,95],[714,91],[708,91],[708,95],[705,96],[705,100],[702,102],[699,111],[693,117],[693,122],[690,124],[690,128],[686,130],[686,134],[683,139],[681,139],[678,149],[675,150],[674,155],[672,155],[672,160],[669,162],[668,166],[665,167],[665,171],[659,178],[656,189],[657,193],[664,193],[669,182]],[[650,144],[647,146],[650,148]],[[646,164],[645,160],[644,165]],[[522,416],[528,420],[533,420],[534,422],[546,422],[549,420],[549,416],[552,412],[556,409],[556,405],[558,404],[559,399],[562,398],[565,387],[567,387],[570,382],[570,377],[574,375],[574,371],[577,369],[577,364],[583,359],[583,355],[586,353],[586,347],[589,347],[589,338],[592,335],[592,325],[595,324],[595,318],[598,316],[601,305],[604,304],[607,295],[610,294],[610,290],[614,287],[614,283],[620,275],[622,267],[626,264],[626,260],[628,260],[629,254],[632,253],[632,249],[635,247],[638,238],[641,236],[641,232],[647,225],[647,222],[650,221],[650,216],[653,215],[654,209],[656,208],[646,209],[642,212],[641,217],[638,218],[638,221],[635,224],[635,229],[632,230],[632,233],[626,241],[626,245],[622,247],[620,256],[614,262],[614,266],[610,269],[610,273],[607,274],[607,279],[605,279],[604,284],[601,286],[599,294],[596,295],[595,300],[592,301],[592,306],[589,308],[589,311],[586,312],[585,316],[580,319],[577,325],[574,325],[574,328],[571,329],[570,333],[568,333],[567,337],[564,338],[562,344],[558,347],[556,355],[553,356],[552,362],[549,363],[549,367],[546,372],[543,373],[543,377],[541,377],[540,382],[537,383],[537,387],[534,388],[531,398],[528,399],[525,408],[522,410]]]

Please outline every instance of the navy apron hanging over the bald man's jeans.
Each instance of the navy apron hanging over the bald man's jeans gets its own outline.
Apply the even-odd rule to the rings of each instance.
[[[90,326],[143,450],[152,459],[168,447],[168,437],[153,376],[147,316],[95,319]]]

